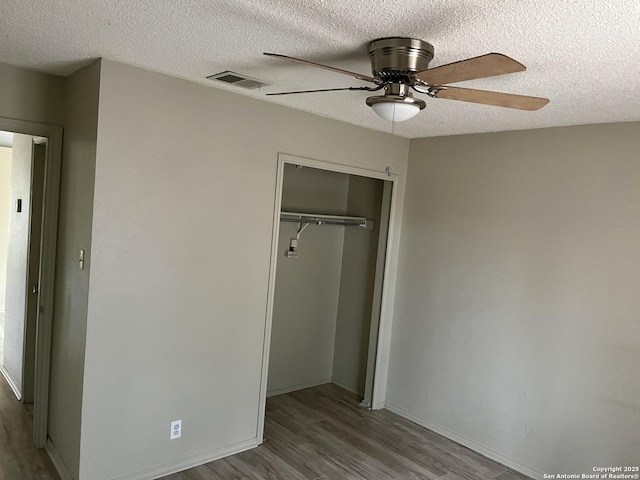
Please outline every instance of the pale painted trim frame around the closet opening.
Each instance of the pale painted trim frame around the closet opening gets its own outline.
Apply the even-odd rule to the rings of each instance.
[[[284,153],[278,154],[276,173],[275,202],[273,207],[273,229],[271,237],[271,260],[269,264],[269,287],[267,292],[267,313],[264,331],[264,345],[262,350],[262,372],[260,378],[260,401],[258,410],[257,440],[262,443],[264,436],[265,407],[267,401],[267,377],[269,373],[269,352],[271,348],[271,327],[273,323],[273,306],[275,298],[276,268],[278,264],[278,239],[280,235],[280,209],[282,206],[282,187],[284,184],[285,164],[302,165],[336,173],[358,175],[392,182],[391,205],[389,212],[389,226],[387,231],[387,245],[385,250],[384,274],[382,280],[382,301],[380,306],[380,325],[378,330],[377,349],[375,355],[375,372],[373,375],[373,395],[371,408],[380,409],[385,405],[386,380],[388,371],[389,351],[391,347],[391,322],[393,320],[393,304],[395,300],[395,273],[397,259],[393,251],[397,247],[399,235],[396,231],[401,212],[398,209],[400,195],[400,177],[396,174],[387,175],[385,172],[351,167],[337,163],[330,163],[309,158],[297,157]]]

